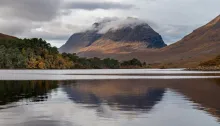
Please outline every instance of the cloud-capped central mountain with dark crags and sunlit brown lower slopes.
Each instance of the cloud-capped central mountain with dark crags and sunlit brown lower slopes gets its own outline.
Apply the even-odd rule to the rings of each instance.
[[[94,23],[85,32],[73,34],[59,51],[80,54],[91,51],[128,53],[165,46],[162,37],[144,21],[136,18],[105,19]]]

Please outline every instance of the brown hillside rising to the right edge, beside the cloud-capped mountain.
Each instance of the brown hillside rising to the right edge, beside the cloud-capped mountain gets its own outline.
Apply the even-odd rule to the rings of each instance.
[[[208,24],[194,30],[179,42],[162,49],[161,52],[173,57],[173,59],[171,58],[173,61],[184,62],[189,66],[196,66],[200,62],[219,55],[220,15]],[[180,58],[177,57],[180,57],[182,61],[178,61]]]

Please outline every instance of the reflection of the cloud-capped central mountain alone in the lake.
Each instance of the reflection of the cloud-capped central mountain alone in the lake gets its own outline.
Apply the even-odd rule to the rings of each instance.
[[[131,83],[133,82],[133,83]],[[63,85],[69,99],[88,106],[107,104],[122,111],[148,111],[162,100],[166,89],[134,81],[76,81]],[[69,82],[71,83],[71,82]]]

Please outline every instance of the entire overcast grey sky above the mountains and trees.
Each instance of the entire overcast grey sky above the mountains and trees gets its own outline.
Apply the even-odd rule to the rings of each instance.
[[[102,18],[135,17],[171,44],[218,16],[219,6],[220,0],[0,0],[0,32],[60,47]]]

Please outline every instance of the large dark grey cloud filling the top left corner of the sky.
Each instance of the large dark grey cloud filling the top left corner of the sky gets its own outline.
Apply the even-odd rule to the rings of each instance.
[[[0,16],[4,19],[50,21],[60,10],[60,0],[0,0]]]

